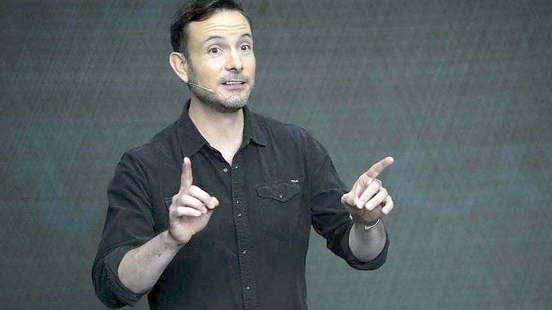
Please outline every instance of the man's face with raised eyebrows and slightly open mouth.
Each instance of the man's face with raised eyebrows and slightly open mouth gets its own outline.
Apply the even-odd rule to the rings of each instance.
[[[215,108],[236,110],[247,104],[255,84],[253,37],[238,11],[222,10],[189,25],[188,79],[192,96]]]

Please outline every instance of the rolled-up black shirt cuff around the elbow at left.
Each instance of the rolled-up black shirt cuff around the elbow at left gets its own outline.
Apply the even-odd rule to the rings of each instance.
[[[144,296],[144,293],[136,294],[127,289],[124,284],[122,284],[121,280],[119,280],[119,275],[117,273],[119,264],[124,255],[131,249],[133,249],[133,246],[121,246],[113,250],[106,256],[105,264],[107,267],[107,285],[109,291],[113,293],[117,300],[132,307],[142,296]]]

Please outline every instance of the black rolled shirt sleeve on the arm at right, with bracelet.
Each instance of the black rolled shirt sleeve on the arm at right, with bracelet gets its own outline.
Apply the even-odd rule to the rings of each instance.
[[[348,189],[339,178],[330,155],[312,137],[307,142],[307,164],[310,165],[311,221],[314,230],[326,239],[330,251],[354,269],[372,270],[381,267],[387,259],[389,238],[386,238],[381,253],[370,262],[361,262],[353,255],[349,248],[349,233],[354,221],[341,204],[341,196]]]

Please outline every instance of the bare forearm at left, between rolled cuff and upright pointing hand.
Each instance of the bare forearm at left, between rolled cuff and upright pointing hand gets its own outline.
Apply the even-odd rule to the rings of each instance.
[[[160,233],[124,255],[117,269],[120,281],[134,293],[149,291],[180,248],[168,231]]]

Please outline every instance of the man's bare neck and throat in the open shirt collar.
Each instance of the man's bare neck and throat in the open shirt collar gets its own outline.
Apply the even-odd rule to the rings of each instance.
[[[220,110],[192,97],[189,115],[202,137],[231,164],[242,144],[243,109]]]

